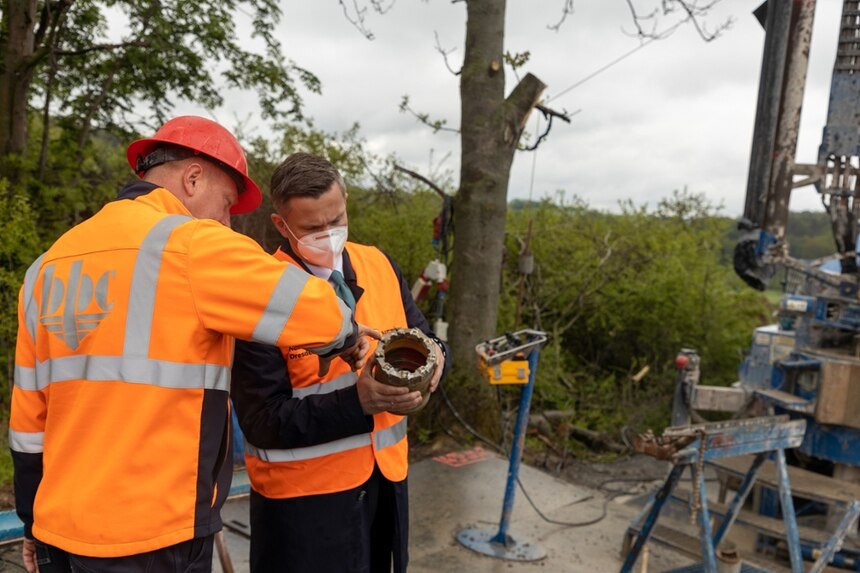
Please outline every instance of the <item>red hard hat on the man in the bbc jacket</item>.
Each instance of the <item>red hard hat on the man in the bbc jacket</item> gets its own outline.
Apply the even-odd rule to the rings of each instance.
[[[257,184],[248,177],[245,152],[233,134],[220,124],[204,117],[182,115],[162,125],[152,137],[132,142],[125,155],[138,177],[143,177],[146,171],[140,169],[141,163],[160,143],[189,149],[195,155],[214,161],[228,173],[232,171],[242,180],[244,191],[239,193],[239,200],[230,209],[230,214],[249,213],[260,206],[263,196]]]

